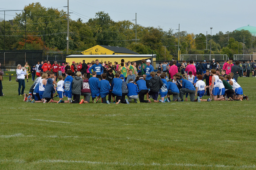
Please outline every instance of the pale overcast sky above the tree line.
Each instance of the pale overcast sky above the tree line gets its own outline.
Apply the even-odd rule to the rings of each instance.
[[[44,7],[58,8],[67,11],[68,0],[3,0],[0,10],[22,10],[25,5],[40,2]],[[256,26],[256,0],[69,0],[69,12],[72,20],[81,18],[87,22],[94,18],[98,11],[105,11],[113,21],[135,19],[142,26],[160,27],[165,31],[187,31],[199,34],[233,30],[246,26]],[[19,11],[15,11],[18,12]],[[15,16],[14,11],[6,11],[5,19]],[[4,12],[0,11],[0,18]]]

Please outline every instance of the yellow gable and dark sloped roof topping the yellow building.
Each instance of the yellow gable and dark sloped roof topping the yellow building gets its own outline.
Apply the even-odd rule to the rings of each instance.
[[[124,47],[113,47],[107,45],[96,45],[82,52],[84,55],[122,55],[138,54]]]

